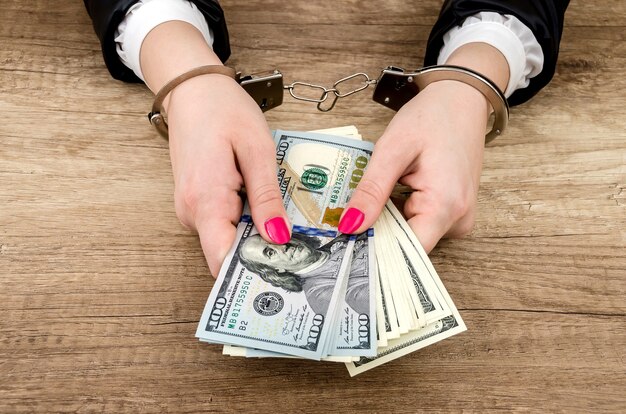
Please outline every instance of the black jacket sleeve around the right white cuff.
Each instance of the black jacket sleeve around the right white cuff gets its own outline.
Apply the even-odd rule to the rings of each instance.
[[[563,33],[563,19],[569,0],[446,0],[428,39],[424,65],[437,64],[443,47],[443,36],[465,18],[491,11],[510,14],[524,23],[535,35],[543,50],[543,70],[530,79],[528,87],[518,89],[509,98],[510,105],[519,105],[532,98],[554,76],[559,43]]]

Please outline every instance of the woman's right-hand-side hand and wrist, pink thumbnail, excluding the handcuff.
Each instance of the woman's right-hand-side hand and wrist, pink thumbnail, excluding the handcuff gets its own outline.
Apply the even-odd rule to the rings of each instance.
[[[506,87],[508,64],[487,44],[462,46],[446,63],[477,70]],[[404,214],[426,251],[444,236],[467,235],[474,224],[490,110],[487,99],[464,83],[440,81],[424,88],[376,143],[339,230],[371,227],[400,182],[414,190]]]

